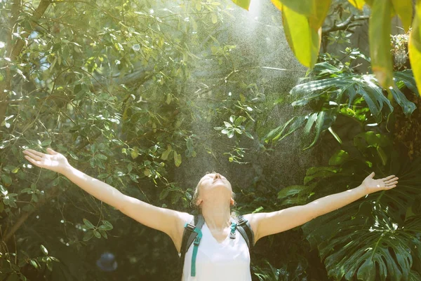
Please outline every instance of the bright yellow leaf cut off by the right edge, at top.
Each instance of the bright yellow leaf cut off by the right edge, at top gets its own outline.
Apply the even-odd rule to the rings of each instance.
[[[417,88],[421,88],[421,1],[417,1],[412,31],[408,40],[409,61]],[[421,91],[418,91],[421,96]]]

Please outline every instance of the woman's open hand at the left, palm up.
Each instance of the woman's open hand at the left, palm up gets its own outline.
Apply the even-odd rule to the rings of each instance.
[[[34,151],[33,149],[26,149],[23,151],[25,158],[32,164],[38,167],[44,167],[45,169],[52,170],[54,172],[59,172],[62,174],[65,172],[67,167],[69,167],[69,162],[64,155],[53,151],[53,149],[48,148],[45,154],[39,151]]]

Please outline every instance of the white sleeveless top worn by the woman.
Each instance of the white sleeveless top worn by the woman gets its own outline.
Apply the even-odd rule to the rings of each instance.
[[[251,281],[250,253],[246,240],[236,229],[236,238],[229,235],[219,243],[206,223],[196,256],[196,276],[191,276],[194,243],[185,255],[182,281]]]

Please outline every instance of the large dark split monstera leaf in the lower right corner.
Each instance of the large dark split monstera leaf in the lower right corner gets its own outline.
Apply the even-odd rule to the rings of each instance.
[[[408,280],[413,255],[421,255],[421,215],[396,224],[387,206],[367,200],[314,219],[302,229],[335,280]]]

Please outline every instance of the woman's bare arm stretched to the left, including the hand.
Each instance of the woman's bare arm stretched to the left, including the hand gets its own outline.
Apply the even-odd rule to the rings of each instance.
[[[49,154],[27,149],[23,153],[26,154],[25,158],[30,163],[63,174],[84,191],[108,205],[112,205],[128,217],[139,221],[145,226],[168,234],[173,239],[175,247],[178,250],[180,249],[184,224],[192,220],[192,215],[156,207],[136,198],[126,196],[109,184],[76,170],[69,165],[62,154],[49,148],[47,151]]]

